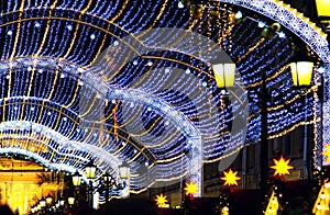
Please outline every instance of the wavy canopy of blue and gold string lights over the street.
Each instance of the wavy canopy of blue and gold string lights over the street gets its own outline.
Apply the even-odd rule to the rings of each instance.
[[[297,91],[293,90],[287,65],[295,54],[289,42],[278,35],[273,39],[262,38],[262,29],[251,20],[233,25],[231,5],[213,2],[219,13],[206,8],[202,9],[204,15],[196,18],[188,8],[178,9],[176,1],[89,2],[10,1],[1,16],[0,27],[4,32],[0,37],[4,44],[0,53],[2,122],[30,122],[47,127],[50,133],[34,139],[52,150],[51,155],[36,154],[44,162],[63,162],[66,167],[81,169],[86,159],[96,158],[101,170],[114,172],[116,167],[107,159],[109,154],[130,162],[132,189],[140,192],[155,181],[187,176],[196,131],[202,138],[204,162],[212,162],[240,150],[239,144],[229,144],[230,138],[235,140],[233,143],[242,142],[242,134],[229,132],[233,121],[231,112],[240,104],[224,104],[216,87],[213,71],[197,59],[197,55],[194,56],[196,50],[191,50],[193,54],[173,50],[148,53],[121,65],[114,73],[90,67],[109,45],[119,43],[131,33],[152,27],[198,32],[215,41],[237,61],[240,81],[249,90],[249,101],[243,102],[251,106],[246,142],[260,138],[263,71],[266,72],[267,88],[275,89],[272,92],[274,101],[268,101],[271,138],[301,125],[305,111],[308,123],[316,123],[311,111],[315,109],[315,92],[307,94],[308,105],[302,105]],[[162,39],[160,35],[152,34],[147,41],[153,44]],[[183,43],[191,47],[189,42]],[[201,42],[198,45],[201,46]],[[133,47],[127,48],[134,53]],[[128,56],[122,49],[114,48],[111,57],[124,61]],[[89,77],[89,71],[103,78],[102,84]],[[166,84],[176,90],[166,89]],[[142,98],[134,93],[127,93],[125,98],[118,94],[108,97],[108,88],[124,92],[138,90],[160,101],[141,102]],[[200,93],[189,100],[191,91]],[[86,100],[81,102],[81,98]],[[98,105],[106,105],[102,117]],[[238,115],[243,112],[240,110]],[[173,120],[175,117],[176,121]],[[190,126],[185,123],[178,125],[184,118]],[[33,139],[28,131],[21,131],[16,125],[11,129],[3,128],[1,136]],[[25,147],[20,144],[18,147]],[[84,150],[81,146],[89,148]],[[6,147],[11,148],[13,144]],[[8,151],[8,148],[0,151]],[[107,152],[97,156],[102,151]],[[145,169],[141,172],[142,168]],[[147,179],[147,176],[152,177]]]

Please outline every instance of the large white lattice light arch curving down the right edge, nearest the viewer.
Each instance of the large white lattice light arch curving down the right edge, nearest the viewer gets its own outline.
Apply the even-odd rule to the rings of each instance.
[[[243,8],[248,8],[252,11],[262,13],[265,16],[271,18],[274,21],[283,24],[296,35],[299,36],[306,44],[308,44],[316,54],[322,59],[323,67],[322,72],[329,72],[330,64],[330,49],[327,41],[327,34],[302,13],[298,12],[297,9],[293,9],[289,4],[284,3],[280,0],[220,0],[221,2],[228,2],[237,4]],[[327,79],[327,80],[326,80]],[[328,75],[324,76],[324,82],[328,83]],[[321,81],[320,79],[318,81]],[[326,94],[328,94],[329,86],[323,86]],[[321,105],[320,102],[315,105],[314,111],[316,112],[315,127],[322,127],[321,129],[315,131],[316,134],[316,146],[315,146],[315,166],[320,169],[322,166],[321,151],[323,144],[329,143],[330,135],[328,132],[329,121],[321,118],[328,118],[330,113],[329,98],[324,94],[324,103]],[[317,97],[317,95],[316,95]],[[323,101],[321,101],[323,102]],[[322,109],[322,111],[320,111]],[[321,116],[322,115],[322,116]],[[321,125],[322,124],[322,125]]]

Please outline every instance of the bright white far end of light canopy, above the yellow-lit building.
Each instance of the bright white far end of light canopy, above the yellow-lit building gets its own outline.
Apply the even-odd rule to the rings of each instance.
[[[3,131],[24,131],[29,132],[26,134],[3,134]],[[43,145],[46,148],[41,149],[40,152],[54,152],[55,155],[52,158],[43,158],[43,163],[48,165],[51,168],[57,167],[56,169],[62,169],[66,171],[74,172],[75,168],[73,165],[59,165],[59,163],[54,163],[54,160],[61,159],[63,156],[67,156],[72,158],[73,160],[81,160],[84,163],[89,161],[89,158],[85,157],[85,155],[89,151],[92,154],[94,157],[103,160],[110,168],[108,167],[102,167],[107,169],[118,169],[118,163],[119,160],[111,156],[108,155],[108,152],[98,146],[94,146],[90,144],[85,144],[81,142],[72,142],[62,134],[50,129],[47,126],[43,126],[40,124],[33,124],[28,121],[13,121],[13,122],[4,122],[0,124],[0,131],[2,133],[1,140],[2,143],[6,142],[6,139],[30,139],[32,142],[36,142],[37,145]],[[45,142],[45,139],[48,139],[48,142]],[[56,148],[54,148],[54,144],[52,143],[57,143],[58,145]],[[23,149],[20,149],[22,147],[22,143],[14,143],[11,148],[3,148],[1,149],[1,152],[8,154],[21,154],[24,151]],[[46,146],[45,146],[46,145]],[[65,148],[65,151],[62,151],[61,149]],[[11,150],[11,151],[10,151]],[[70,154],[69,151],[77,150],[75,154]],[[19,151],[19,152],[18,152]],[[28,145],[25,148],[26,152],[23,152],[22,155],[31,155],[30,157],[32,158],[37,158],[36,160],[40,160],[40,155],[36,152],[37,148],[35,144]],[[34,154],[33,154],[33,152]],[[58,158],[57,156],[58,155]],[[61,167],[61,168],[58,168]]]

